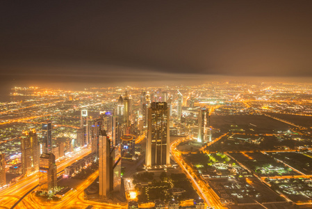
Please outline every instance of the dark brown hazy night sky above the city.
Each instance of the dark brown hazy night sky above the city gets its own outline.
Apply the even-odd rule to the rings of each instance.
[[[311,0],[1,1],[0,29],[2,84],[312,76]]]

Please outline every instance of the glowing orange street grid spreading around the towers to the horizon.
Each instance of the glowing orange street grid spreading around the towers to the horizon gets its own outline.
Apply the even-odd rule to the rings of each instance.
[[[183,95],[181,121],[178,120],[179,117],[176,114],[178,89]],[[198,86],[148,88],[128,86],[126,88],[88,88],[85,91],[16,87],[12,90],[11,102],[0,103],[0,150],[6,154],[7,169],[19,162],[19,137],[22,130],[35,128],[40,138],[40,123],[49,119],[54,125],[54,140],[76,139],[81,109],[88,109],[91,120],[97,117],[99,111],[113,112],[117,99],[126,90],[131,93],[134,101],[133,113],[138,120],[142,120],[142,116],[138,114],[142,91],[149,92],[152,101],[161,102],[165,95],[170,98],[168,100],[172,104],[170,135],[188,136],[187,139],[172,142],[171,153],[174,161],[188,178],[185,185],[190,185],[188,183],[190,182],[197,192],[196,195],[191,195],[192,198],[196,199],[199,195],[206,202],[206,206],[215,208],[224,208],[224,206],[235,208],[254,206],[254,204],[258,206],[262,204],[270,208],[271,205],[276,207],[285,201],[306,203],[311,200],[308,180],[311,175],[312,159],[310,153],[312,146],[310,140],[311,84],[262,83],[253,85],[210,82]],[[197,115],[200,108],[208,108],[211,111],[211,133],[214,141],[206,144],[202,149],[197,147],[180,152],[176,147],[181,142],[186,143],[186,140],[197,139]],[[109,134],[111,133],[108,131]],[[139,134],[137,143],[142,143],[144,146],[145,132]],[[186,146],[181,147],[185,148],[188,145],[189,143],[186,143]],[[74,155],[67,153],[67,156],[58,162],[58,171],[88,153],[90,149],[78,150],[78,153]],[[205,162],[196,161],[196,157],[190,157],[192,155],[202,155],[199,158]],[[131,173],[127,175],[130,176],[129,180],[133,179]],[[268,177],[270,180],[265,180]],[[47,203],[31,194],[19,203],[18,208],[38,208],[36,204],[40,204],[40,208],[51,206],[65,208],[68,203],[75,203],[77,208],[85,208],[90,204],[98,208],[121,207],[86,201],[83,197],[83,189],[88,187],[97,175],[93,173],[86,178],[88,180],[74,184],[75,189],[60,202]],[[174,176],[165,173],[162,177],[156,178],[158,183],[154,182],[154,185],[142,186],[141,184],[144,189],[131,186],[129,201],[133,199],[138,201],[135,192],[139,197],[143,193],[149,196],[142,202],[158,198],[167,200],[172,198],[172,194],[179,194],[179,189],[181,189],[181,195],[174,196],[174,198],[181,199],[181,206],[184,206],[186,202],[183,199],[187,198],[185,194],[188,194],[190,190],[188,187],[181,188],[183,187],[181,183],[177,186],[172,178]],[[185,180],[185,177],[183,178]],[[17,179],[17,182],[11,182],[9,187],[0,193],[1,205],[13,206],[17,199],[38,184],[37,179],[38,175],[35,174]],[[298,182],[301,180],[300,185],[296,180]],[[268,189],[263,183],[274,185],[272,189],[275,189],[277,193]],[[285,189],[286,186],[282,183],[289,183],[291,189]],[[302,189],[302,192],[299,192],[298,188]],[[133,192],[133,189],[136,191]],[[289,196],[288,193],[292,189],[297,193]],[[154,206],[154,203],[150,202],[145,204],[150,207]],[[144,203],[140,206],[144,206]]]

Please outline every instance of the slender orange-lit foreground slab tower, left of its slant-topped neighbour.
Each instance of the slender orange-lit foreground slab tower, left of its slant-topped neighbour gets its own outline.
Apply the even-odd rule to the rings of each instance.
[[[105,130],[99,135],[99,198],[106,199],[110,192],[110,140]]]

